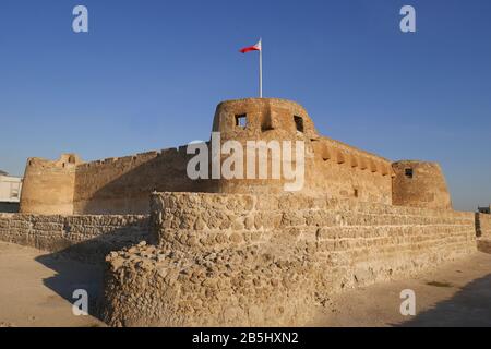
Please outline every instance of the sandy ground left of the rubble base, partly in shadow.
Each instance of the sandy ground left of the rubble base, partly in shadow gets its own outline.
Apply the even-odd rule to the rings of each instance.
[[[93,316],[73,315],[70,302],[73,290],[87,289],[91,310],[91,294],[100,285],[101,272],[94,265],[0,242],[0,327],[105,326]]]

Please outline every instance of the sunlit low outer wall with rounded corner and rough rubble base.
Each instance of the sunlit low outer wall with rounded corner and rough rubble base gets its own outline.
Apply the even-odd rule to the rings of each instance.
[[[107,257],[110,325],[304,325],[332,292],[476,251],[472,213],[304,195],[154,194],[151,227]]]

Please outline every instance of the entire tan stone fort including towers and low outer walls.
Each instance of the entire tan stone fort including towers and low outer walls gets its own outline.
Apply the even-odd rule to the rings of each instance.
[[[490,216],[455,212],[438,164],[320,135],[294,101],[224,101],[212,131],[241,144],[303,141],[302,190],[191,180],[185,146],[29,158],[21,213],[0,215],[0,239],[104,263],[96,311],[113,326],[308,325],[332,292],[490,245]]]

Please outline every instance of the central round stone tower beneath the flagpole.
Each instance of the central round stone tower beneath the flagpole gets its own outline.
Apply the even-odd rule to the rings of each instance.
[[[219,132],[221,144],[231,141],[247,149],[244,169],[250,165],[249,161],[255,164],[255,169],[248,172],[242,179],[218,181],[218,192],[255,194],[283,192],[285,185],[289,185],[288,183],[296,182],[298,179],[298,176],[296,179],[285,178],[286,165],[295,169],[304,168],[304,171],[299,171],[302,173],[299,185],[301,189],[298,190],[302,192],[312,190],[310,177],[314,171],[311,142],[319,139],[319,135],[311,118],[299,104],[280,98],[226,100],[216,107],[212,131]],[[256,143],[251,146],[251,142]],[[302,152],[304,156],[301,159],[296,155],[297,146],[300,143],[304,146],[304,153]],[[291,152],[285,144],[291,145]],[[278,151],[276,145],[282,148]],[[249,155],[253,153],[256,154],[256,157],[251,160]],[[266,154],[268,158],[262,158],[260,153]],[[285,154],[292,154],[291,158],[285,159]],[[226,157],[223,155],[221,160]],[[301,160],[300,167],[298,167],[299,160]],[[280,178],[275,178],[275,169],[278,167],[273,164],[282,167],[279,169]],[[261,172],[260,169],[264,168],[266,170]],[[253,174],[249,176],[249,173]]]

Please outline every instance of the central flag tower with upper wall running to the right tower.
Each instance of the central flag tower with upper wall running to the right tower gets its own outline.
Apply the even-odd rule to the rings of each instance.
[[[238,116],[247,119],[238,125]],[[301,131],[296,118],[301,119]],[[298,141],[304,144],[303,194],[322,193],[338,198],[355,198],[383,204],[392,203],[392,168],[387,159],[358,149],[330,137],[321,136],[306,109],[297,103],[278,98],[246,98],[220,103],[215,111],[213,131],[220,133],[221,142],[239,142],[243,148],[249,141]],[[284,152],[285,149],[282,149]],[[270,158],[273,152],[268,153]],[[288,161],[287,161],[288,163]],[[296,158],[292,155],[291,164]],[[246,164],[244,164],[246,168]],[[272,173],[272,165],[267,164]],[[280,194],[291,180],[220,180],[220,193]]]

